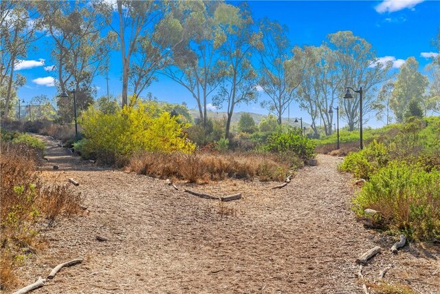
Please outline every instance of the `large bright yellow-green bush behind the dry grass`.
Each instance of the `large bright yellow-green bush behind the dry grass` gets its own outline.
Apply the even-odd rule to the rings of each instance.
[[[179,116],[172,117],[168,112],[156,114],[154,105],[142,102],[137,108],[125,106],[115,114],[104,114],[90,107],[80,120],[86,138],[81,143],[82,151],[100,159],[107,156],[117,159],[137,151],[173,152],[194,148],[183,136],[183,129],[188,125],[179,123]]]

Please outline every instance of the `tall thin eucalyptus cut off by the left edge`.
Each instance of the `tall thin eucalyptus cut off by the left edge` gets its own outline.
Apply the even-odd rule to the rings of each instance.
[[[16,97],[17,87],[25,84],[25,78],[16,74],[15,69],[32,49],[32,43],[41,37],[39,30],[41,21],[36,19],[32,2],[0,1],[0,91],[3,118],[10,114],[11,101]]]

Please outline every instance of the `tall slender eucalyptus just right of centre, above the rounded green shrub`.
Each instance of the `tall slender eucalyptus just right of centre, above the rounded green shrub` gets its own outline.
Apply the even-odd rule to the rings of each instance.
[[[274,114],[281,125],[281,117],[292,103],[305,69],[298,67],[296,57],[292,57],[287,26],[265,18],[259,22],[259,30],[259,85],[269,97],[261,102],[261,107]]]

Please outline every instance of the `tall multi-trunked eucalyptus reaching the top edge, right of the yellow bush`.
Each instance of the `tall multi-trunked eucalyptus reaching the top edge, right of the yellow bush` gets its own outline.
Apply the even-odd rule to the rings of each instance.
[[[221,4],[222,1],[173,2],[173,17],[182,27],[184,41],[174,48],[170,66],[162,72],[190,92],[197,102],[204,127],[208,97],[219,87],[224,74],[219,62],[219,48],[225,41],[225,34],[215,17]]]

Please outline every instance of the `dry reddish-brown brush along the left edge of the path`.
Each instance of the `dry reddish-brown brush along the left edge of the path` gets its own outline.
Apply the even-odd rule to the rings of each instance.
[[[83,201],[68,186],[44,182],[35,169],[32,149],[24,145],[1,145],[1,289],[13,285],[14,269],[34,253],[39,220],[47,218],[52,224],[59,216],[78,213]]]

